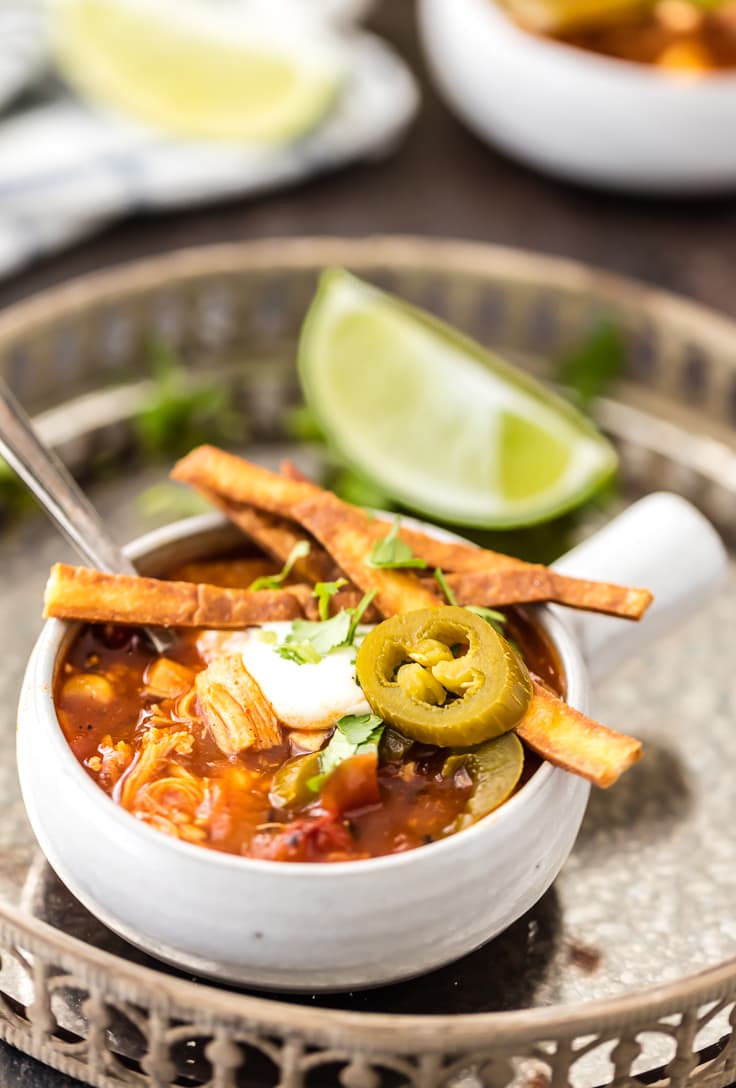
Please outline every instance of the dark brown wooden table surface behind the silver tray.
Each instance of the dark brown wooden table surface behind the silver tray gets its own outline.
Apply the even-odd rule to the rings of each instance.
[[[384,0],[373,25],[408,60],[424,90],[418,121],[392,158],[256,201],[127,219],[1,283],[0,306],[103,265],[181,246],[284,235],[402,233],[572,257],[736,314],[736,196],[624,198],[532,174],[480,144],[438,100],[427,82],[409,0]],[[3,1088],[73,1084],[0,1044]]]

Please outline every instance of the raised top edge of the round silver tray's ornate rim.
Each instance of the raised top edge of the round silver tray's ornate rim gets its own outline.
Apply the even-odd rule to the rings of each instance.
[[[355,239],[319,236],[267,238],[194,246],[87,273],[0,311],[0,348],[12,345],[13,339],[29,325],[48,323],[62,314],[69,317],[93,299],[100,304],[114,301],[121,293],[130,289],[136,293],[147,288],[160,289],[172,281],[199,277],[208,268],[219,273],[236,272],[244,268],[244,256],[247,256],[250,271],[260,267],[273,269],[274,265],[311,268],[316,251],[320,255],[321,264],[345,263],[358,269],[383,262],[395,268],[416,267],[418,258],[427,261],[441,259],[446,269],[465,273],[477,271],[482,274],[491,268],[502,267],[504,275],[529,284],[538,282],[541,270],[566,289],[592,288],[599,297],[617,306],[635,311],[655,311],[661,321],[674,320],[678,324],[685,321],[690,326],[702,329],[710,343],[722,337],[729,341],[736,337],[736,321],[727,316],[648,284],[572,260],[453,239],[377,235]],[[683,1003],[692,1006],[717,1001],[733,994],[736,986],[734,957],[662,986],[580,1004],[438,1015],[343,1012],[310,1009],[275,1001],[268,996],[225,991],[208,982],[179,979],[151,967],[131,964],[10,905],[0,906],[0,927],[14,947],[32,954],[34,951],[53,950],[56,962],[73,970],[77,978],[88,980],[96,989],[103,980],[109,990],[127,1001],[135,1002],[139,994],[145,993],[147,1001],[152,997],[162,1006],[173,1002],[177,1010],[187,1011],[198,1021],[238,1016],[248,1025],[266,1030],[283,1033],[286,1029],[308,1035],[314,1041],[339,1040],[343,1046],[369,1044],[373,1052],[380,1051],[383,1046],[391,1046],[396,1052],[415,1051],[420,1046],[425,1052],[447,1053],[465,1048],[487,1050],[500,1040],[506,1049],[530,1039],[553,1036],[572,1038],[588,1031],[600,1031],[603,1026],[615,1028],[628,1025],[641,1014],[662,1017],[677,1013]],[[11,1029],[9,1040],[24,1048],[23,1039],[14,1039],[15,1035]],[[49,1064],[58,1064],[45,1050],[39,1048],[37,1053]],[[75,1072],[78,1075],[78,1071]]]

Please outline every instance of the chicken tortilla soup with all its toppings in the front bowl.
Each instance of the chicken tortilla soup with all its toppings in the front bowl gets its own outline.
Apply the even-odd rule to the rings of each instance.
[[[57,564],[45,596],[47,617],[85,625],[56,679],[61,727],[136,818],[231,854],[352,861],[463,830],[538,757],[603,788],[640,758],[561,697],[524,606],[637,620],[648,590],[389,526],[213,447],[174,475],[260,556],[169,579]],[[173,632],[164,655],[145,625]]]

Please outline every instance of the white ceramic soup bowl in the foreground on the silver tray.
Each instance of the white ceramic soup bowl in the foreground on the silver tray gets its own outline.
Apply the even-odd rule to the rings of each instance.
[[[682,509],[677,524],[663,527],[661,543],[674,551],[676,541],[690,559],[694,548],[709,552],[703,561],[712,581],[722,565],[717,537],[688,504],[665,498]],[[640,529],[641,518],[629,520],[629,543]],[[615,528],[604,541],[610,557],[621,553]],[[228,542],[232,529],[208,515],[151,533],[128,554],[143,571],[156,572],[214,554]],[[588,545],[589,566],[593,552]],[[676,571],[675,582],[668,597],[691,609],[691,578]],[[575,640],[553,609],[540,608],[538,617],[560,654],[569,702],[585,709],[586,670]],[[75,630],[47,622],[28,665],[17,738],[26,809],[44,853],[77,899],[162,960],[279,989],[346,989],[408,977],[511,925],[543,894],[572,849],[588,784],[549,764],[467,830],[389,857],[334,865],[265,862],[172,839],[114,804],[62,734],[53,678]],[[613,643],[621,644],[615,621],[611,630]],[[600,641],[597,652],[605,652]]]

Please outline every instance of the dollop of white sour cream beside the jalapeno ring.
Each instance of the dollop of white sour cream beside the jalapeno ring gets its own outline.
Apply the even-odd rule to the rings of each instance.
[[[330,729],[346,714],[370,714],[355,678],[356,650],[369,630],[369,626],[360,627],[355,645],[332,650],[314,665],[280,656],[279,647],[292,631],[289,622],[263,623],[247,631],[208,631],[198,645],[205,659],[218,653],[240,654],[275,716],[291,729],[307,732]],[[275,641],[267,641],[273,635]]]

